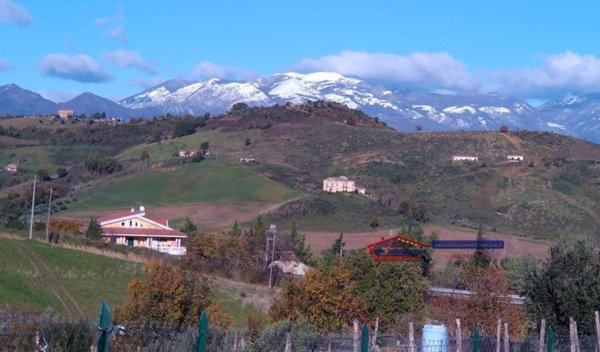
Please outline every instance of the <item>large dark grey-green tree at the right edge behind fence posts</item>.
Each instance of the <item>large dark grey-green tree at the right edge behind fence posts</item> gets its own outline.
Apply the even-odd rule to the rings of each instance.
[[[585,238],[562,239],[549,257],[527,275],[524,294],[532,321],[546,319],[555,332],[567,334],[569,317],[582,335],[593,335],[594,311],[600,310],[600,252]]]

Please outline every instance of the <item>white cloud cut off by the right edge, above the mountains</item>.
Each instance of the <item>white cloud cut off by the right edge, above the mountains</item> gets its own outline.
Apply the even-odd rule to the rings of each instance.
[[[565,92],[598,92],[600,59],[567,51],[544,57],[537,68],[495,71],[492,81],[501,90],[530,98],[555,97]]]

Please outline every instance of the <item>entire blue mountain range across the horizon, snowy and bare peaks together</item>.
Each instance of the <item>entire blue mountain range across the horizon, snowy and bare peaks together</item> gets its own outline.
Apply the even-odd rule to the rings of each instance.
[[[54,103],[15,84],[0,87],[0,114],[105,112],[124,119],[157,114],[221,114],[238,102],[249,106],[335,101],[360,109],[399,131],[498,130],[554,131],[600,142],[600,94],[568,94],[537,108],[498,93],[434,94],[390,90],[332,72],[280,73],[250,81],[170,80],[119,102],[84,93]]]

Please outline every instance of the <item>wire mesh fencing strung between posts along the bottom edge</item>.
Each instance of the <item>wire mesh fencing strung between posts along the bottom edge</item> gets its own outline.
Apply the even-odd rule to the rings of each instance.
[[[76,319],[49,314],[16,314],[0,311],[0,351],[95,351],[100,331],[97,319]],[[237,352],[283,352],[286,344],[294,352],[354,351],[356,340],[352,335],[318,335],[305,330],[294,331],[288,327],[267,328],[260,332],[245,329],[223,330],[209,327],[207,351]],[[414,339],[412,344],[401,334],[373,335],[369,351],[380,352],[496,352],[495,336],[482,336],[478,341],[454,338],[440,344],[437,341]],[[196,351],[198,343],[197,324],[174,324],[162,322],[120,322],[114,325],[110,337],[110,351]],[[580,336],[579,351],[597,351],[595,336]],[[509,352],[539,352],[539,338],[531,336],[508,342]],[[504,352],[504,341],[500,341]],[[547,351],[544,348],[544,351]],[[548,350],[550,351],[550,350]],[[570,352],[569,336],[554,336],[554,352]]]

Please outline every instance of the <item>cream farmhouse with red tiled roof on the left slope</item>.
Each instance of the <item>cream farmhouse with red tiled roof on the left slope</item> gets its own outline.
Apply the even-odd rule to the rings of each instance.
[[[171,255],[184,255],[186,248],[181,240],[184,233],[169,227],[166,219],[146,217],[144,207],[139,210],[104,216],[96,220],[102,227],[104,241],[129,247],[144,247]],[[87,230],[87,227],[81,231]]]

